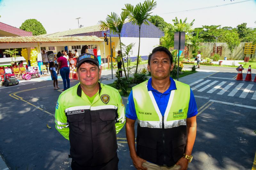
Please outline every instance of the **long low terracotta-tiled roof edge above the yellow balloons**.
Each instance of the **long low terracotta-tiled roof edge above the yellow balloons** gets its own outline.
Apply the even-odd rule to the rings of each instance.
[[[83,37],[0,37],[0,43],[32,43],[32,42],[88,42],[88,41],[104,41],[104,39],[96,36]]]

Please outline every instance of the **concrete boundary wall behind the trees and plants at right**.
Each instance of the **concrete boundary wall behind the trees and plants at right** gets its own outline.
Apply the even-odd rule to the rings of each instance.
[[[233,57],[232,59],[237,59],[237,60],[243,60],[244,58],[244,42],[240,43],[239,46],[236,47],[236,49],[233,52]],[[200,46],[204,46],[201,47],[199,49],[199,51],[201,51],[201,55],[202,58],[206,58],[209,57],[211,55],[211,53],[213,52],[213,47],[216,45],[216,43],[201,43]],[[227,57],[229,59],[229,49],[226,43],[217,43],[217,46],[222,46],[222,58]],[[215,52],[215,51],[214,51]],[[189,56],[192,57],[192,53],[191,50],[189,50]],[[247,56],[250,56],[249,54],[247,54]],[[256,57],[256,54],[254,53],[252,55],[253,58]]]

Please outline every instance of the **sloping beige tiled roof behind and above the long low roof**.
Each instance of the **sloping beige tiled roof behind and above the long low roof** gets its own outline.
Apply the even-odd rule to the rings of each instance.
[[[77,29],[68,30],[68,31],[56,32],[56,33],[53,33],[53,34],[43,34],[43,35],[40,35],[40,36],[43,36],[43,37],[61,37],[61,36],[75,35],[75,34],[81,34],[81,33],[86,33],[86,32],[97,32],[97,31],[100,31],[99,25],[92,25],[92,26],[77,28]]]

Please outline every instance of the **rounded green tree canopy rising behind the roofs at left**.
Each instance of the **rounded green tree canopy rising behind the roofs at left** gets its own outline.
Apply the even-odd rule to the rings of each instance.
[[[30,31],[34,36],[46,34],[44,26],[36,19],[27,19],[21,24],[20,29]]]

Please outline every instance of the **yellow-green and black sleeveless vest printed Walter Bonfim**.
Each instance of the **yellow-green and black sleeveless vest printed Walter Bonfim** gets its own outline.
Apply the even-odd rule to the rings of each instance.
[[[172,90],[162,116],[148,81],[132,88],[138,117],[137,154],[160,166],[173,166],[183,156],[187,140],[187,113],[190,99],[189,85],[174,80]]]

